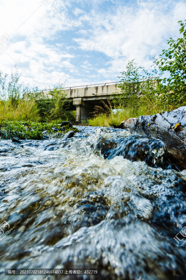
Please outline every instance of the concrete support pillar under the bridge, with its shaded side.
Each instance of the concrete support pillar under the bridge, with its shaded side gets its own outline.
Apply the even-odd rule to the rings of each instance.
[[[80,124],[83,120],[90,119],[92,117],[92,111],[94,105],[87,101],[83,101],[82,98],[74,98],[73,105],[76,107],[76,123]]]

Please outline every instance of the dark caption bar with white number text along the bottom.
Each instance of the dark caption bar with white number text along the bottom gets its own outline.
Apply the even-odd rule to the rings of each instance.
[[[59,269],[59,268],[5,268],[5,275],[101,275],[101,269],[86,269],[86,268],[76,268],[76,269]]]

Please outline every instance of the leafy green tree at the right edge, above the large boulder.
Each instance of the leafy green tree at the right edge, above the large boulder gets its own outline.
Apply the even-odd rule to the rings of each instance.
[[[173,40],[170,38],[170,48],[163,50],[156,64],[162,77],[165,72],[169,77],[161,78],[158,85],[158,101],[167,102],[173,108],[186,105],[186,20],[178,21],[182,38]]]

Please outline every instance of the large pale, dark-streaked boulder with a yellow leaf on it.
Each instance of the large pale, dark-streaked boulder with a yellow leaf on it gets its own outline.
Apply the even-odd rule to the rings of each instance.
[[[130,128],[130,124],[125,128]],[[140,116],[134,132],[161,139],[170,160],[179,170],[186,169],[186,106],[162,114]]]

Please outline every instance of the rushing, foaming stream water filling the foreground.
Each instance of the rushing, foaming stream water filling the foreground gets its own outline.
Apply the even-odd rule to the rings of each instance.
[[[186,225],[186,170],[175,170],[160,140],[78,128],[69,139],[0,141],[0,223],[12,228],[0,239],[0,279],[14,277],[4,268],[185,279],[186,238],[173,237]]]

